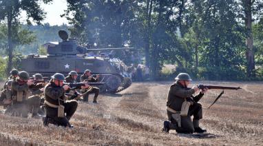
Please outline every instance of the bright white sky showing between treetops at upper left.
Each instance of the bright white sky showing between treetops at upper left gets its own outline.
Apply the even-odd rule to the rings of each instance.
[[[50,25],[62,25],[63,23],[68,24],[67,19],[60,17],[60,15],[63,14],[64,10],[67,9],[66,0],[54,0],[50,4],[41,3],[41,8],[43,8],[43,10],[47,12],[42,23],[50,23]],[[22,21],[26,19],[25,16],[25,12],[22,12]]]

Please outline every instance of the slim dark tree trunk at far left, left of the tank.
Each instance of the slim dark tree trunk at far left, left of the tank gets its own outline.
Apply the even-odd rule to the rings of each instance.
[[[12,11],[8,12],[8,67],[6,74],[12,69],[13,42],[12,42]]]

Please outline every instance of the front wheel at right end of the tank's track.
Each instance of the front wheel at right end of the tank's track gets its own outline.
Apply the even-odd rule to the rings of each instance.
[[[109,78],[106,81],[106,88],[107,92],[116,92],[118,90],[118,87],[120,86],[121,79],[118,76],[109,76]]]

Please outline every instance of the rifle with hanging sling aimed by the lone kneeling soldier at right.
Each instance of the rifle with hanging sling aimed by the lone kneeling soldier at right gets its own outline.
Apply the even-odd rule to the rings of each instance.
[[[217,98],[215,98],[215,101],[207,107],[210,108],[213,104],[215,104],[216,101],[224,94],[224,90],[240,90],[241,87],[227,87],[227,86],[218,86],[218,85],[198,85],[197,86],[200,90],[203,90],[204,88],[208,88],[209,90],[222,90],[222,92],[218,95]]]

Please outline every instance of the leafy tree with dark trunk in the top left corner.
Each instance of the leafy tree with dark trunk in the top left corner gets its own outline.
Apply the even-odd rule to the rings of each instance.
[[[52,0],[43,0],[48,3]],[[8,36],[8,68],[9,72],[12,69],[13,50],[19,39],[19,16],[24,10],[27,14],[27,22],[30,24],[32,19],[36,23],[40,23],[45,15],[41,10],[39,0],[2,0],[0,1],[0,21],[7,22]]]

